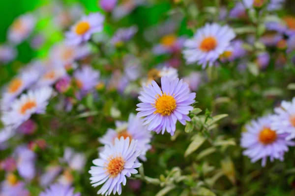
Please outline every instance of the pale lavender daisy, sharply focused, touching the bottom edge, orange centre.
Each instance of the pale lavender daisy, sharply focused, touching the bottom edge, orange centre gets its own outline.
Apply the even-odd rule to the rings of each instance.
[[[114,144],[106,145],[103,152],[99,153],[100,158],[94,159],[89,173],[91,184],[97,187],[104,183],[97,194],[111,195],[118,193],[121,195],[121,183],[126,185],[126,177],[131,174],[138,173],[135,168],[139,168],[141,163],[135,163],[137,157],[141,154],[136,151],[137,141],[131,140],[129,137],[124,139],[122,136],[120,140],[115,139]]]

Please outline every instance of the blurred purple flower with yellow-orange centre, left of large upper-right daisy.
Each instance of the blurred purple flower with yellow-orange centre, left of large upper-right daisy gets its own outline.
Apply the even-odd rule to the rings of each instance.
[[[165,35],[152,50],[155,54],[167,54],[180,52],[185,42],[184,37],[177,37],[174,34]]]

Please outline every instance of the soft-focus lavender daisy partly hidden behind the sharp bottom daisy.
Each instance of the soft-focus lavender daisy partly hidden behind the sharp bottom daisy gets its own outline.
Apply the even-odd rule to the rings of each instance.
[[[139,158],[143,161],[146,161],[146,153],[151,148],[149,145],[151,134],[148,131],[147,127],[141,122],[141,118],[137,117],[134,114],[129,115],[128,123],[127,122],[116,122],[117,129],[108,129],[107,133],[99,139],[99,142],[104,145],[114,144],[116,138],[124,139],[129,137],[130,140],[137,140],[136,150],[141,151]],[[138,131],[140,130],[140,131]]]

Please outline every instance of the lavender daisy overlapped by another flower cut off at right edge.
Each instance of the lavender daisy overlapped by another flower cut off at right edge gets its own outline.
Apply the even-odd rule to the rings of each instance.
[[[284,160],[284,153],[288,146],[295,146],[294,142],[286,141],[287,134],[281,134],[270,127],[271,116],[259,118],[246,125],[247,132],[242,133],[241,146],[247,148],[243,154],[254,163],[262,159],[262,166],[266,165],[267,157]]]

